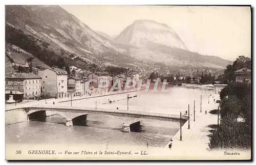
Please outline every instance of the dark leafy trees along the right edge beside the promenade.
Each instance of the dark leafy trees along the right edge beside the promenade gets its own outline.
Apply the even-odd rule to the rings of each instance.
[[[220,93],[220,125],[210,135],[209,147],[251,148],[251,84],[235,82],[234,71],[251,69],[251,60],[240,56],[224,72],[228,85]]]

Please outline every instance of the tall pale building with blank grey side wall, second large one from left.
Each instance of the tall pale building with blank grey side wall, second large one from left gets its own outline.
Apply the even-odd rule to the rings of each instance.
[[[46,68],[39,70],[38,75],[42,77],[42,92],[56,98],[68,97],[68,73],[65,68]]]

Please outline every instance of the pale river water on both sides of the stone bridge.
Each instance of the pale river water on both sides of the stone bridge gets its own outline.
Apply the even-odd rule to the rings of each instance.
[[[129,110],[145,111],[179,115],[185,113],[190,104],[190,112],[200,111],[200,95],[206,101],[210,95],[208,90],[188,89],[183,87],[168,87],[168,92],[134,92],[129,99]],[[136,97],[134,97],[136,96]],[[73,106],[127,109],[127,94],[105,96],[73,101]],[[106,100],[112,100],[111,104]],[[60,104],[69,105],[70,102]],[[191,111],[193,109],[193,111]],[[203,109],[202,109],[203,111]],[[63,144],[63,143],[95,143],[95,144],[125,144],[144,146],[165,146],[179,130],[179,122],[159,120],[142,120],[140,132],[121,132],[121,117],[105,115],[88,115],[87,126],[65,126],[66,120],[54,115],[45,122],[29,121],[6,126],[6,143],[20,144]]]

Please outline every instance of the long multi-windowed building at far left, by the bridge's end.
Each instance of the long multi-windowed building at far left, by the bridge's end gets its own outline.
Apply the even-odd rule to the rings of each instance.
[[[11,73],[5,76],[5,91],[24,94],[24,99],[37,99],[41,94],[41,77],[34,73]]]

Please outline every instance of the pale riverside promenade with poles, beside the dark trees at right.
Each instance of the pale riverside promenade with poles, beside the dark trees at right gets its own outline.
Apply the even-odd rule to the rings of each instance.
[[[195,121],[194,108],[193,105],[190,105],[190,129],[188,129],[187,120],[182,126],[182,141],[180,141],[180,130],[173,136],[171,152],[174,155],[178,154],[179,157],[182,155],[184,159],[249,159],[250,151],[209,150],[208,143],[210,141],[208,135],[211,134],[210,130],[212,129],[210,125],[218,124],[218,115],[209,113],[212,109],[218,109],[219,103],[214,102],[214,99],[215,101],[220,100],[219,94],[214,94],[214,97],[209,97],[209,103],[208,98],[202,100],[202,113],[200,113],[200,108],[195,109]],[[205,114],[205,111],[207,111],[207,114]],[[166,147],[168,147],[168,144]],[[225,151],[239,152],[240,155],[225,155]]]

